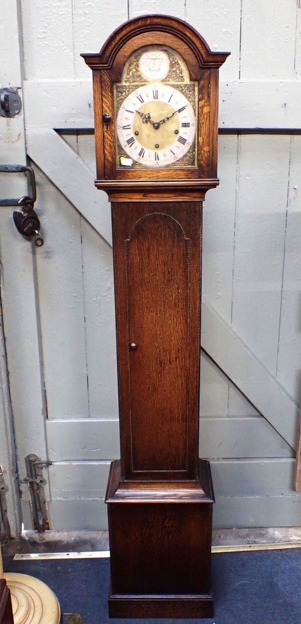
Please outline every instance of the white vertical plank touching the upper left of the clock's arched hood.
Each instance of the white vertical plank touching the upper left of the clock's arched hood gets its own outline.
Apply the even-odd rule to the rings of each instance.
[[[72,0],[74,64],[77,79],[91,79],[80,52],[98,52],[108,35],[128,19],[127,0]]]

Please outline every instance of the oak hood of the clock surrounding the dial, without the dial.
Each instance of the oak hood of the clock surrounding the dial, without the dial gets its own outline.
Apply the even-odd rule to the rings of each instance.
[[[115,162],[113,84],[122,80],[125,62],[136,49],[158,44],[175,49],[198,82],[198,165],[195,167],[127,168]],[[98,54],[82,54],[93,72],[97,188],[110,200],[147,201],[204,199],[217,178],[217,107],[219,67],[229,52],[212,52],[189,24],[175,17],[150,15],[131,19],[108,38]],[[109,127],[103,114],[112,115]],[[118,198],[118,192],[121,198]]]

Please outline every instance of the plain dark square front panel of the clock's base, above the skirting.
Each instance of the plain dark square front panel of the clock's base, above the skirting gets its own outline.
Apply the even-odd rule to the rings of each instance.
[[[112,593],[206,594],[212,504],[108,504]]]

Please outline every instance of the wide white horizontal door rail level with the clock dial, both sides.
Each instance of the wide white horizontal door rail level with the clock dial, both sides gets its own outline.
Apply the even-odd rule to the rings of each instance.
[[[221,80],[219,129],[300,129],[300,97],[296,80]],[[29,133],[93,128],[91,80],[26,80],[24,102]]]

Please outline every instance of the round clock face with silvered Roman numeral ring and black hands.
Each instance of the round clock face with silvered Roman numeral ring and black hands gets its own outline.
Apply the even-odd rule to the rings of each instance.
[[[123,100],[117,115],[117,136],[123,150],[143,167],[166,167],[193,145],[193,107],[178,89],[150,82]]]

